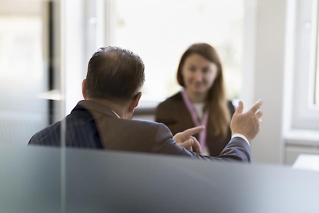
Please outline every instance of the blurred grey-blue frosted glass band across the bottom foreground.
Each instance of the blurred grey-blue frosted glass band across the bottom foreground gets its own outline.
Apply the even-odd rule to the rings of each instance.
[[[5,213],[319,213],[319,172],[288,167],[1,146],[0,171]]]

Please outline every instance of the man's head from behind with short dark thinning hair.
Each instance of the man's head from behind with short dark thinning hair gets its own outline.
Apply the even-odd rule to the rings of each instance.
[[[144,64],[137,54],[119,47],[100,48],[89,61],[82,93],[84,99],[131,105],[131,110],[138,104],[144,80]]]

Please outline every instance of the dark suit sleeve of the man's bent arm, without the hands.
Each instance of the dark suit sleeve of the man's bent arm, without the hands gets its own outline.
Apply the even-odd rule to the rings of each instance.
[[[202,156],[195,152],[190,152],[180,147],[172,137],[172,133],[165,125],[158,124],[153,131],[154,145],[152,152],[185,156],[198,160],[250,162],[251,159],[250,147],[247,142],[240,137],[232,138],[217,157]]]

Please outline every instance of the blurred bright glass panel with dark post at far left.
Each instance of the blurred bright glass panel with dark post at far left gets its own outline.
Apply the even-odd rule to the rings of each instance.
[[[0,1],[0,143],[27,144],[53,121],[48,100],[55,75],[50,5]]]

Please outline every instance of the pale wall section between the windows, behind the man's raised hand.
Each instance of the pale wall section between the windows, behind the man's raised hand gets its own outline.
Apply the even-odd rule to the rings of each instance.
[[[247,3],[246,7],[255,6],[255,14],[247,15],[255,16],[256,22],[245,28],[244,45],[247,44],[248,50],[244,53],[243,82],[248,85],[243,85],[243,101],[250,106],[252,101],[264,100],[263,123],[260,133],[252,141],[252,158],[254,162],[279,163],[283,144],[286,0],[247,0]],[[249,95],[245,96],[246,93]]]

